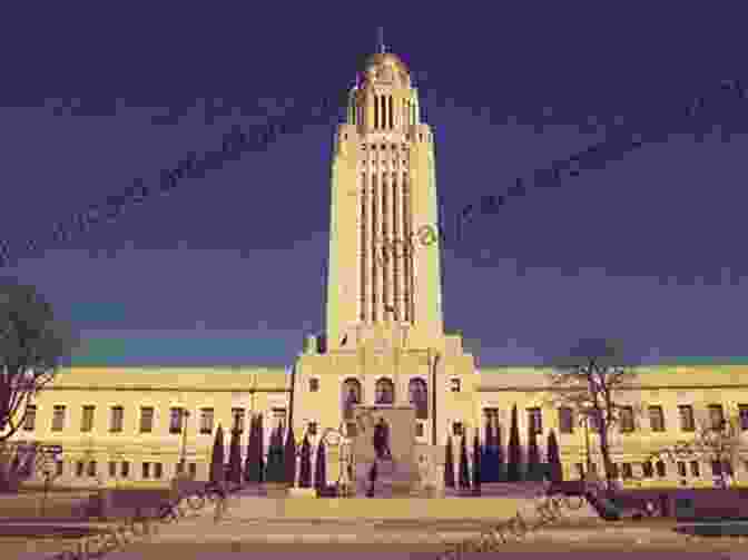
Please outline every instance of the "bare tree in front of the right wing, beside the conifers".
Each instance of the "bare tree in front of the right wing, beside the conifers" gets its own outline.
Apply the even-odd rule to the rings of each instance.
[[[608,489],[613,488],[617,479],[610,458],[610,430],[620,422],[620,410],[629,404],[618,400],[619,393],[636,377],[630,366],[623,364],[619,343],[584,338],[567,356],[552,361],[547,373],[550,385],[547,404],[572,409],[597,432]]]

